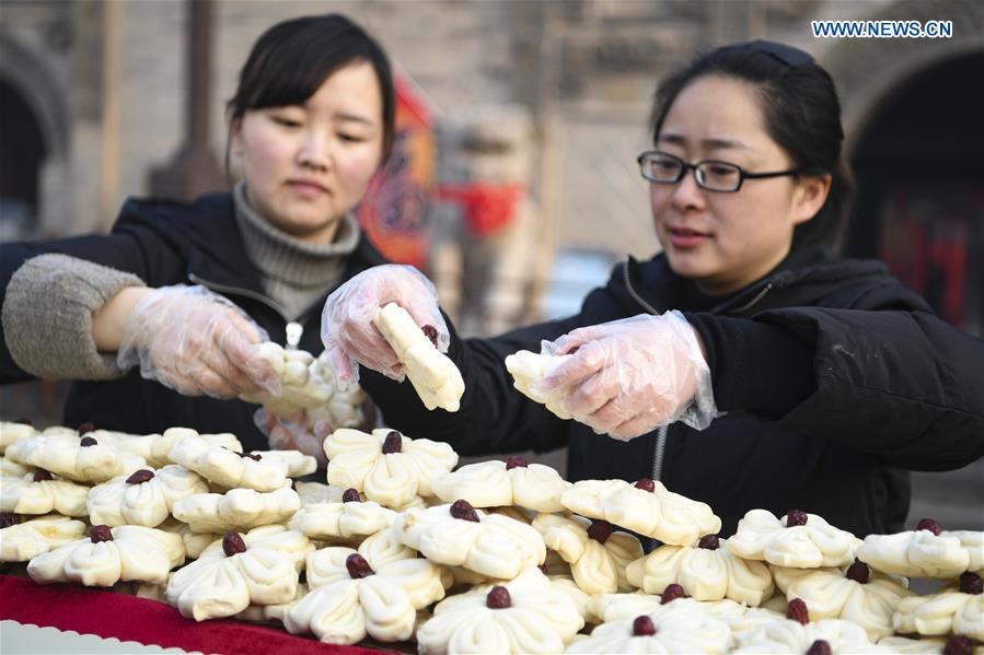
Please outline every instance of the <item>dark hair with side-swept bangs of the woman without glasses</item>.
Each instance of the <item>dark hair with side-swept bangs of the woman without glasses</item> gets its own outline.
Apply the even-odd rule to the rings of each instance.
[[[396,91],[390,60],[374,38],[341,14],[292,19],[264,32],[243,65],[235,95],[227,104],[229,124],[251,109],[303,104],[328,75],[356,61],[372,65],[379,80],[385,161],[396,130]]]

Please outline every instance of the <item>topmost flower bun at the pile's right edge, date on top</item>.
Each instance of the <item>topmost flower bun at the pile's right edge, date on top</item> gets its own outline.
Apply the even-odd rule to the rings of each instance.
[[[926,518],[915,530],[868,535],[858,548],[858,559],[885,573],[946,580],[984,568],[982,536],[970,530],[949,533]]]

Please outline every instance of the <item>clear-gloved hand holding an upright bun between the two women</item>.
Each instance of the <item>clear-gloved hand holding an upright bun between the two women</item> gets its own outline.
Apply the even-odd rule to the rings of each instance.
[[[448,352],[451,334],[433,283],[412,266],[377,266],[336,289],[321,315],[321,340],[340,383],[358,382],[358,364],[397,382],[406,376],[396,353],[372,325],[377,311],[387,303],[402,306],[421,328],[433,326],[438,350]]]

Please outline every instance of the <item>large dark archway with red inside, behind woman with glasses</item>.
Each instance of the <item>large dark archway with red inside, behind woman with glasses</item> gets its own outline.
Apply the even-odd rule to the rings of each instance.
[[[984,334],[984,51],[910,77],[855,142],[846,249],[878,257],[949,323]]]

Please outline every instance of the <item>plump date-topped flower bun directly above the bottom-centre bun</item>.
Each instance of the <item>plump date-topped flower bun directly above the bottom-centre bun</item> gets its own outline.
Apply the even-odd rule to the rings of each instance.
[[[393,522],[393,534],[431,561],[497,580],[512,580],[546,557],[543,538],[533,527],[486,514],[467,501],[406,510]]]

